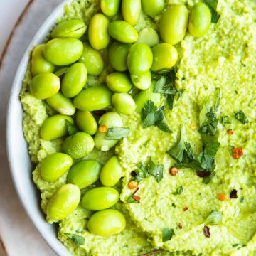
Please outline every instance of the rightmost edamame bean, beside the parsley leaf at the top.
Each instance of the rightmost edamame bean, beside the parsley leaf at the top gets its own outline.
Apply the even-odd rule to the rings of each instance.
[[[192,36],[201,37],[210,28],[211,12],[206,4],[201,2],[195,4],[189,16],[188,31]]]

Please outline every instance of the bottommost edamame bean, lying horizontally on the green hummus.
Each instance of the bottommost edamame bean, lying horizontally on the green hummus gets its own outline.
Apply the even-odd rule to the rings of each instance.
[[[94,235],[107,236],[122,232],[126,225],[124,215],[118,210],[107,209],[94,213],[87,223],[87,228]]]

